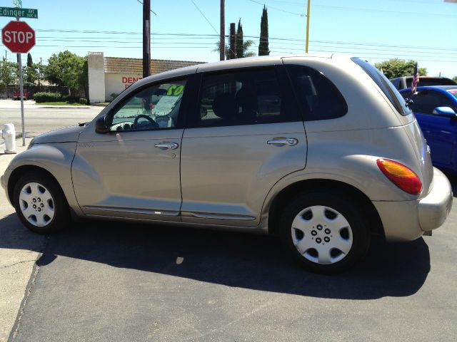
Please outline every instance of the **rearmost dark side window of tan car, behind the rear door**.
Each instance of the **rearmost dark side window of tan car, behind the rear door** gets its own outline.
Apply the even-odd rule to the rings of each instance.
[[[305,121],[341,118],[348,105],[322,73],[306,66],[286,66]]]

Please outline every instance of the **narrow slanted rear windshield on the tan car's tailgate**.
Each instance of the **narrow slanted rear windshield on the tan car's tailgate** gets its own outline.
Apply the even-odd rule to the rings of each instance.
[[[381,88],[398,113],[403,116],[411,114],[411,110],[409,110],[405,100],[401,97],[400,93],[398,93],[398,90],[396,90],[391,81],[388,81],[386,76],[384,76],[381,71],[378,71],[377,68],[366,61],[362,61],[360,58],[352,58],[352,61],[360,66],[363,71],[368,73],[368,76],[370,76],[378,87]]]

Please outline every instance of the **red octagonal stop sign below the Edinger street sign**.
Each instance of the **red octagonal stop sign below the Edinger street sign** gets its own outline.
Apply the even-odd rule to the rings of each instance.
[[[35,46],[35,31],[25,21],[10,21],[1,30],[1,41],[14,53],[27,53]]]

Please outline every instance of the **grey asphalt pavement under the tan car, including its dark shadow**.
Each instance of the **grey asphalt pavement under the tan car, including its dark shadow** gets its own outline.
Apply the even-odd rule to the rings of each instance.
[[[376,240],[366,261],[340,276],[297,268],[272,237],[96,221],[41,237],[2,207],[0,252],[21,252],[30,265],[11,270],[11,279],[29,279],[9,341],[457,336],[455,205],[433,237]]]

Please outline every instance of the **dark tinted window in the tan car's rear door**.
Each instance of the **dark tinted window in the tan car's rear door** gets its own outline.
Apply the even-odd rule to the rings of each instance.
[[[191,127],[253,125],[301,120],[287,104],[273,68],[209,74]]]

